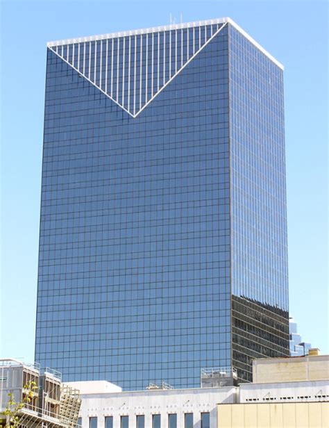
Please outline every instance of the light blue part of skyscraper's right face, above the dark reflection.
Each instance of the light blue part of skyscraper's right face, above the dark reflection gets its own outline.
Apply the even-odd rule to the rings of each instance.
[[[230,26],[232,291],[287,311],[283,74]]]

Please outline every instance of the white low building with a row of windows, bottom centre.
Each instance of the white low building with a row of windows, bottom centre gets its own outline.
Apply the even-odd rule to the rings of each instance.
[[[193,420],[193,428],[214,428],[217,426],[217,403],[235,403],[237,393],[235,386],[133,392],[108,390],[102,393],[101,384],[99,392],[96,390],[95,383],[92,385],[92,390],[88,390],[90,382],[79,382],[79,384],[71,383],[81,392],[82,406],[79,422],[83,428],[183,428],[185,413],[189,413],[186,418]],[[190,415],[191,413],[193,416]],[[139,425],[137,425],[137,416],[140,415],[144,415],[144,424],[140,419],[141,422],[138,421]],[[160,417],[155,418],[154,415],[160,415]],[[128,425],[125,418],[127,416]],[[169,425],[169,418],[171,425]],[[208,418],[210,425],[207,423]],[[160,425],[158,425],[159,420]]]

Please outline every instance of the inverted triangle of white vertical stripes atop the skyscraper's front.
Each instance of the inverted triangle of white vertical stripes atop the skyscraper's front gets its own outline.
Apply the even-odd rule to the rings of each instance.
[[[227,22],[202,24],[193,27],[193,31],[189,31],[188,27],[181,28],[180,34],[176,29],[171,29],[167,38],[168,31],[159,31],[156,33],[157,46],[154,43],[155,33],[150,33],[62,44],[61,49],[58,49],[58,46],[49,46],[49,49],[126,113],[137,117],[226,25]],[[196,31],[199,33],[198,38],[195,36]],[[183,44],[183,41],[186,43]],[[87,50],[86,43],[89,44]],[[190,53],[189,47],[193,53]],[[163,64],[160,67],[161,60]],[[153,92],[155,72],[158,83]],[[102,76],[105,76],[104,83]],[[148,82],[150,78],[151,83]]]

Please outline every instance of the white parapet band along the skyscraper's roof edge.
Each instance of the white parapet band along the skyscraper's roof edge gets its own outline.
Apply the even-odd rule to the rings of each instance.
[[[244,31],[239,25],[237,25],[233,19],[225,17],[225,18],[216,18],[216,19],[207,19],[205,21],[195,21],[195,22],[185,22],[183,24],[169,24],[165,26],[157,26],[150,28],[138,28],[137,30],[130,31],[119,31],[117,33],[108,33],[101,35],[91,35],[87,37],[74,38],[74,39],[66,39],[66,40],[57,40],[53,42],[48,42],[47,47],[55,47],[62,46],[64,44],[72,44],[72,43],[81,43],[81,42],[93,42],[95,40],[106,40],[112,38],[120,38],[126,37],[128,35],[140,35],[140,34],[148,34],[148,33],[158,33],[159,31],[170,31],[170,30],[179,30],[181,28],[192,28],[196,26],[204,26],[210,24],[231,24],[239,33],[244,35],[244,37],[249,40],[249,42],[253,43],[253,45],[259,49],[264,55],[267,56],[274,64],[276,64],[280,69],[284,69],[283,65],[279,63],[276,58],[271,56],[271,54],[264,49],[258,42],[256,42],[246,31]]]

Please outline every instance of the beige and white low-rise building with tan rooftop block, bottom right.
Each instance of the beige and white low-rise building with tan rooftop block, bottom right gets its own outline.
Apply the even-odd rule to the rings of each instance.
[[[329,356],[253,361],[253,384],[219,403],[217,428],[329,427]]]

